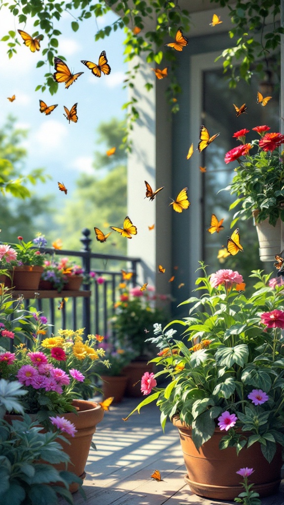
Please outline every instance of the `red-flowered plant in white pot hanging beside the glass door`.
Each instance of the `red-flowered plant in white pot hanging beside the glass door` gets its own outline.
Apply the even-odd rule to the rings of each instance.
[[[254,216],[260,242],[262,261],[272,261],[280,248],[280,223],[284,221],[284,164],[279,147],[284,135],[269,132],[269,126],[253,128],[260,138],[246,143],[249,130],[244,128],[233,134],[241,142],[225,155],[225,163],[238,161],[235,175],[226,188],[236,195],[230,210],[241,204],[231,226],[238,219]],[[251,149],[257,148],[257,151]],[[262,250],[263,248],[263,250]]]

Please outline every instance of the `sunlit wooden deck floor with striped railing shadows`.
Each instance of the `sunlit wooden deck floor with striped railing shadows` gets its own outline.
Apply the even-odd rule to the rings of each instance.
[[[87,499],[77,492],[73,495],[74,504],[217,504],[216,500],[191,493],[185,484],[178,431],[167,423],[163,433],[155,405],[146,406],[127,422],[122,421],[137,403],[137,399],[127,398],[105,413],[93,437],[97,451],[90,450],[85,469],[83,488]],[[155,469],[160,470],[163,481],[150,478]],[[263,505],[284,505],[284,486],[277,495],[263,499]]]

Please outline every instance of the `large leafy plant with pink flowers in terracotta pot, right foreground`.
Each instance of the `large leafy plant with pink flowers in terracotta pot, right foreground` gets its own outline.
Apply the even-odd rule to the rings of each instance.
[[[190,316],[174,321],[190,344],[155,325],[149,340],[159,352],[152,361],[169,383],[157,387],[154,374],[146,373],[141,391],[154,392],[133,412],[157,401],[163,429],[167,418],[178,427],[186,481],[196,494],[232,499],[242,490],[235,472],[252,467],[254,489],[266,496],[281,480],[284,286],[270,287],[271,274],[253,271],[257,282],[247,297],[238,272],[208,277],[203,265],[202,272],[196,284],[204,294],[186,300],[193,304]]]

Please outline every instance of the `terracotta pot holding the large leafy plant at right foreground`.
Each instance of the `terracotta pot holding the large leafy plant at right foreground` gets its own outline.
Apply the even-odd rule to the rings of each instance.
[[[240,484],[242,477],[236,472],[245,467],[254,469],[250,482],[255,484],[254,491],[258,492],[260,497],[277,492],[281,482],[280,445],[277,445],[270,464],[264,458],[258,442],[242,449],[237,456],[235,447],[219,449],[219,442],[224,432],[216,428],[212,438],[197,450],[192,440],[192,429],[184,426],[178,416],[174,416],[172,422],[179,431],[187,470],[185,482],[193,493],[205,498],[233,500],[244,490]],[[244,435],[248,434],[244,432]]]

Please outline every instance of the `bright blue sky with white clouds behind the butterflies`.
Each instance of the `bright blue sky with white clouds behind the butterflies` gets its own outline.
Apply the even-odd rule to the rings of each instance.
[[[54,193],[55,189],[58,191],[57,181],[64,182],[70,194],[81,172],[93,173],[91,162],[94,150],[106,150],[105,145],[95,144],[97,126],[102,120],[108,121],[112,117],[122,119],[125,114],[121,109],[127,100],[127,91],[122,89],[127,70],[123,63],[124,33],[117,30],[104,40],[94,41],[98,28],[111,24],[115,15],[108,13],[97,21],[95,18],[85,20],[77,32],[71,29],[73,19],[70,14],[64,13],[63,20],[58,23],[62,32],[59,54],[65,56],[73,73],[84,73],[68,89],[59,84],[58,92],[53,96],[49,91],[34,91],[38,84],[43,83],[44,73],[50,71],[49,66],[36,68],[37,61],[41,59],[40,52],[33,54],[21,43],[17,46],[17,55],[9,60],[6,43],[0,43],[0,128],[11,113],[17,118],[16,126],[28,130],[24,142],[28,151],[26,169],[42,167],[52,176],[52,180],[38,184],[37,191],[45,194]],[[20,26],[8,9],[2,8],[0,39],[8,30],[16,31],[18,28],[30,34],[35,31],[31,21],[26,26]],[[19,35],[18,38],[22,42]],[[44,47],[42,40],[41,49]],[[97,78],[80,60],[98,63],[103,50],[106,51],[111,73]],[[54,67],[51,71],[54,72]],[[13,94],[16,99],[10,103],[7,97]],[[48,105],[58,104],[58,107],[49,116],[40,114],[39,99]],[[69,124],[63,116],[63,106],[70,110],[76,102],[78,122]]]

